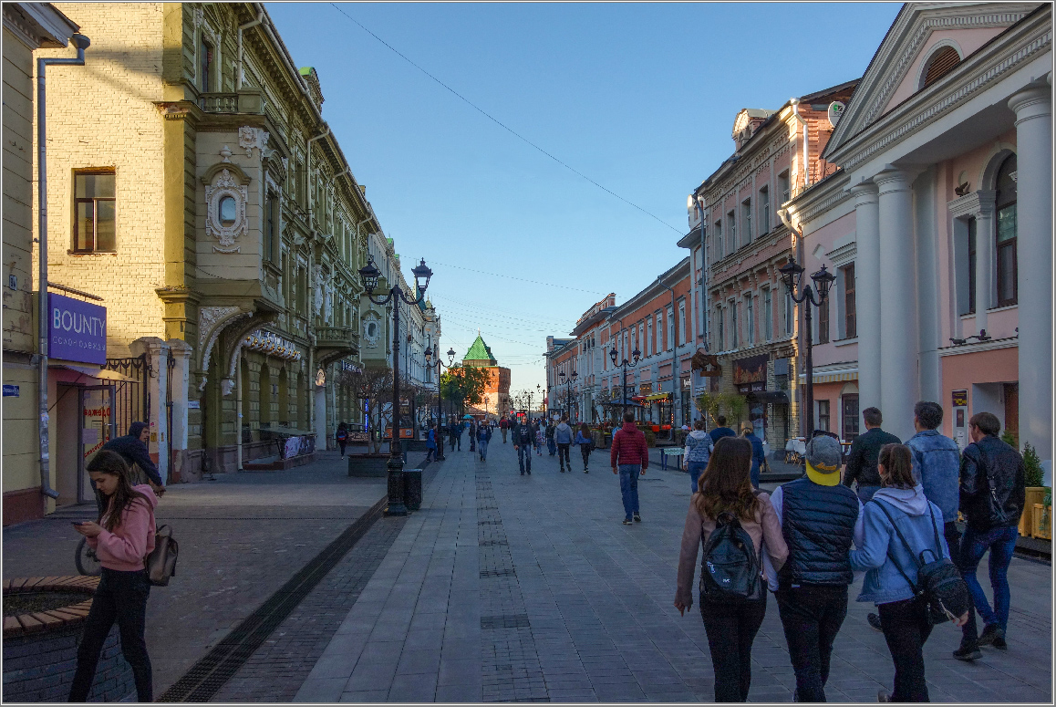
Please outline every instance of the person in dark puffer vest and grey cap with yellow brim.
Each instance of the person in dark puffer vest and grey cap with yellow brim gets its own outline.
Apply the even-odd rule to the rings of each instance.
[[[810,440],[805,460],[807,476],[770,497],[789,556],[780,572],[767,568],[767,576],[795,670],[793,699],[825,702],[832,641],[847,617],[847,588],[854,580],[850,548],[862,502],[840,483],[836,440]]]

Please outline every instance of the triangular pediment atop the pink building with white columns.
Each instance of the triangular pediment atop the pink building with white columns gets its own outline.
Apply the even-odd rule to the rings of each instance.
[[[954,46],[963,60],[1039,7],[1038,2],[906,3],[884,37],[825,149],[851,137],[918,92],[934,52]]]

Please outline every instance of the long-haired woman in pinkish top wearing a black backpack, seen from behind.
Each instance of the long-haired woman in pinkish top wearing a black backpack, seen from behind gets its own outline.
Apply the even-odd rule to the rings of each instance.
[[[775,570],[788,545],[768,494],[752,488],[752,443],[721,438],[690,499],[678,559],[675,608],[693,606],[693,574],[700,566],[700,615],[715,669],[715,702],[747,702],[752,643],[767,614],[766,550]]]

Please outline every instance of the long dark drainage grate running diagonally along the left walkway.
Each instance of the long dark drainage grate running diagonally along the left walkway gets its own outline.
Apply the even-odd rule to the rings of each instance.
[[[381,517],[388,498],[371,506],[272,594],[257,611],[202,656],[157,702],[208,702],[352,546]]]

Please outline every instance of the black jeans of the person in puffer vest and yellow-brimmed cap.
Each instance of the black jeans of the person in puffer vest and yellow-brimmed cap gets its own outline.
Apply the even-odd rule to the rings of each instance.
[[[803,584],[778,590],[776,596],[798,702],[826,702],[832,641],[847,617],[847,587]]]

